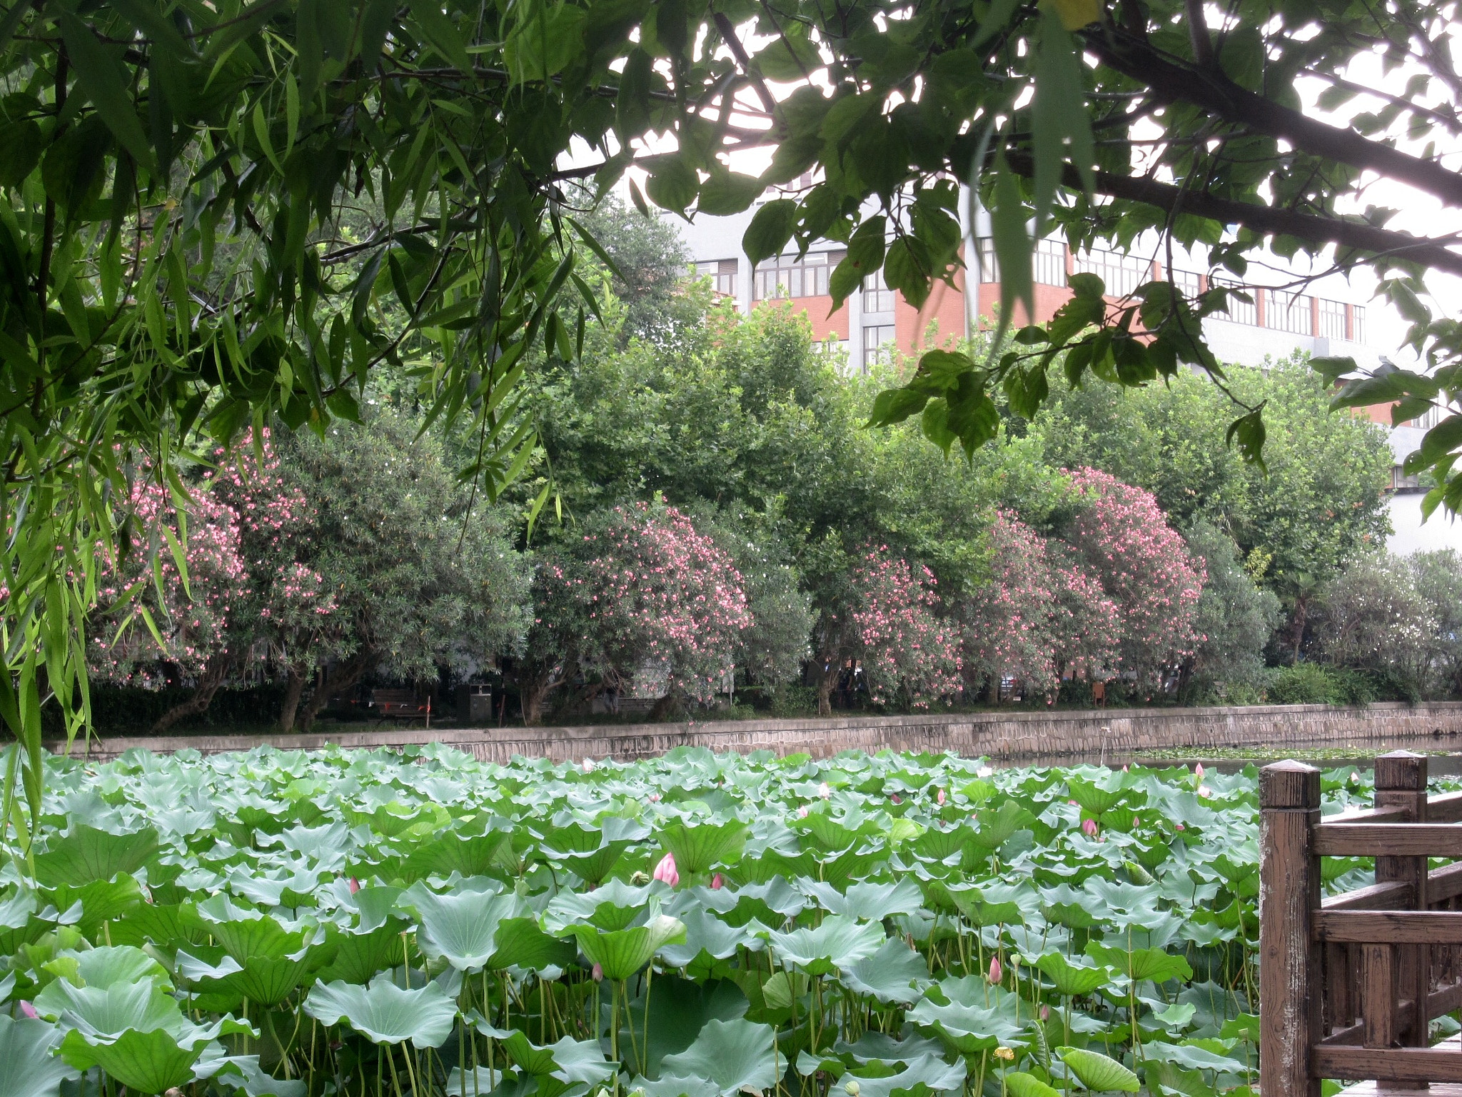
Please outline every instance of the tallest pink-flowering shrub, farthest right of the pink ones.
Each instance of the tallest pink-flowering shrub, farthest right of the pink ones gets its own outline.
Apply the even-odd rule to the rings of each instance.
[[[1064,540],[1116,606],[1124,670],[1161,673],[1193,651],[1205,570],[1151,491],[1107,472],[1070,474],[1077,510]]]

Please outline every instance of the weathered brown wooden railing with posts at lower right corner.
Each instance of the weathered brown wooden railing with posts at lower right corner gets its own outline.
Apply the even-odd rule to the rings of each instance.
[[[1320,819],[1320,771],[1259,778],[1259,1006],[1263,1097],[1320,1079],[1424,1090],[1462,1082],[1462,1049],[1430,1022],[1462,1006],[1462,794],[1427,797],[1427,759],[1376,759],[1376,806]],[[1374,857],[1376,883],[1320,898],[1320,857]],[[1418,1003],[1421,1008],[1418,1009]]]

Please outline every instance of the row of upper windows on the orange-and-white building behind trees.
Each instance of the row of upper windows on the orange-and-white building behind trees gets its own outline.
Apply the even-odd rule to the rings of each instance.
[[[751,276],[751,300],[769,301],[782,297],[826,297],[827,279],[832,271],[842,262],[845,252],[810,252],[797,259],[795,256],[779,256],[756,265]],[[1000,265],[996,259],[994,241],[984,237],[978,241],[978,263],[981,282],[999,282]],[[1094,247],[1072,256],[1072,274],[1094,274],[1102,279],[1107,293],[1114,297],[1126,297],[1136,293],[1137,287],[1151,282],[1156,274],[1155,265],[1140,256],[1123,255]],[[1066,285],[1067,262],[1066,244],[1058,240],[1041,240],[1034,256],[1035,281],[1041,285]],[[711,278],[718,294],[735,297],[737,294],[737,260],[713,259],[696,263],[696,275]],[[1187,295],[1196,295],[1202,288],[1202,278],[1193,271],[1173,271],[1173,281],[1178,290]],[[1212,278],[1213,285],[1232,285],[1238,282]],[[1327,339],[1348,339],[1351,342],[1366,342],[1366,309],[1363,306],[1349,307],[1349,325],[1347,325],[1347,306],[1342,301],[1320,298],[1310,294],[1287,293],[1284,290],[1247,291],[1253,300],[1244,301],[1237,295],[1230,295],[1224,316],[1234,323],[1244,323],[1254,328],[1269,328],[1295,335],[1319,335]],[[883,271],[863,279],[863,312],[893,313],[893,291],[883,281]],[[1260,303],[1263,314],[1260,317]],[[1262,323],[1260,323],[1262,319]],[[1349,331],[1347,331],[1349,328]],[[882,326],[870,328],[879,331]],[[867,341],[864,345],[873,345]]]

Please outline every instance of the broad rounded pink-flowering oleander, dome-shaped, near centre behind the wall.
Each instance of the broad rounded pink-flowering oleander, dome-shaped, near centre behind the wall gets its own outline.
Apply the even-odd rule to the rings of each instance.
[[[577,701],[637,679],[658,683],[655,715],[684,699],[709,702],[753,623],[731,556],[662,503],[592,515],[545,553],[534,591],[519,677],[529,724],[566,683],[580,685]]]

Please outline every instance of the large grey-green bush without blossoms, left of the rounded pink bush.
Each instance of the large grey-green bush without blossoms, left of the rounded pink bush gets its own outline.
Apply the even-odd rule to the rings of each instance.
[[[297,705],[308,728],[368,673],[424,679],[440,664],[490,664],[526,629],[526,569],[504,513],[469,509],[440,442],[420,430],[376,408],[364,426],[336,423],[279,443],[281,478],[310,508],[294,538],[306,546],[300,563],[323,576],[338,629],[329,666],[314,646],[291,649],[285,730]]]

